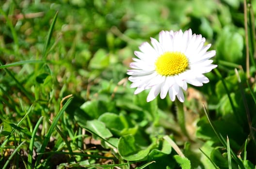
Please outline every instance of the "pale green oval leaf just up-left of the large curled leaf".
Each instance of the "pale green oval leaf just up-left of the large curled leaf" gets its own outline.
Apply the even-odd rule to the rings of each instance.
[[[87,121],[86,127],[93,131],[96,135],[101,138],[110,138],[112,133],[106,128],[105,124],[98,120]]]

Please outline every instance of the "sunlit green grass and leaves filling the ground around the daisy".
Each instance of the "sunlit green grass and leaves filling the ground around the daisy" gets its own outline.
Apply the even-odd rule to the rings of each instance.
[[[0,1],[0,168],[255,169],[255,14],[251,0]],[[216,50],[210,82],[184,104],[134,95],[133,52],[188,28]]]

